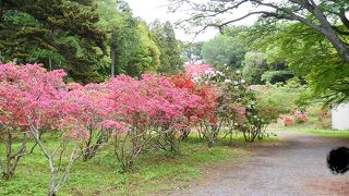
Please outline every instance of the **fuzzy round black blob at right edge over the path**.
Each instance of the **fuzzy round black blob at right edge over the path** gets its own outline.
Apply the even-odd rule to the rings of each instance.
[[[339,147],[329,151],[327,166],[334,174],[344,174],[349,170],[349,148]]]

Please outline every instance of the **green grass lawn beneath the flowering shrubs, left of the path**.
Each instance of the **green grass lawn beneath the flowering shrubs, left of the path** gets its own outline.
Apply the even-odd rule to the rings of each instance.
[[[55,144],[55,140],[47,139],[46,143]],[[208,148],[206,143],[192,136],[181,143],[180,155],[148,151],[136,159],[130,173],[120,172],[120,166],[110,152],[112,150],[104,150],[88,162],[79,160],[58,195],[144,195],[185,188],[207,168],[249,155],[250,147],[243,145],[241,135],[236,136],[233,143],[239,143],[239,147],[229,147],[225,140]],[[47,160],[36,149],[33,155],[21,159],[12,180],[0,180],[0,195],[46,195],[48,179]]]

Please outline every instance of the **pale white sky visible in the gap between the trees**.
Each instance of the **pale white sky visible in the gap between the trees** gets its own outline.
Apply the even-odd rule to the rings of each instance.
[[[168,0],[125,0],[129,2],[133,14],[140,16],[147,23],[154,22],[156,19],[161,22],[169,21],[172,24],[179,20],[188,19],[189,15],[185,12],[168,12],[167,5],[170,4]],[[245,14],[251,8],[245,7],[237,10],[234,12],[234,17]],[[248,19],[238,24],[252,24],[255,19]],[[218,34],[217,29],[208,29],[205,33],[198,35],[195,41],[209,40]],[[188,35],[182,29],[176,29],[176,36],[178,39],[183,41],[192,41],[194,35]]]

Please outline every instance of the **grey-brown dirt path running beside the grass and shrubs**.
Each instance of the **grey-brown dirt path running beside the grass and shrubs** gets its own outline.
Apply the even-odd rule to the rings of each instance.
[[[282,145],[253,150],[251,158],[207,174],[170,195],[349,195],[349,173],[334,175],[328,151],[349,140],[302,133],[278,133]]]

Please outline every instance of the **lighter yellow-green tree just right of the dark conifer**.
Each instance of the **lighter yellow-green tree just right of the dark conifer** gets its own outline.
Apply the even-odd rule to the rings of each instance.
[[[132,15],[125,1],[98,1],[97,12],[100,15],[98,25],[108,32],[107,42],[111,45],[111,38],[115,37],[116,74],[140,76],[158,70],[159,49],[147,25]],[[106,63],[110,64],[111,61],[108,59]]]

